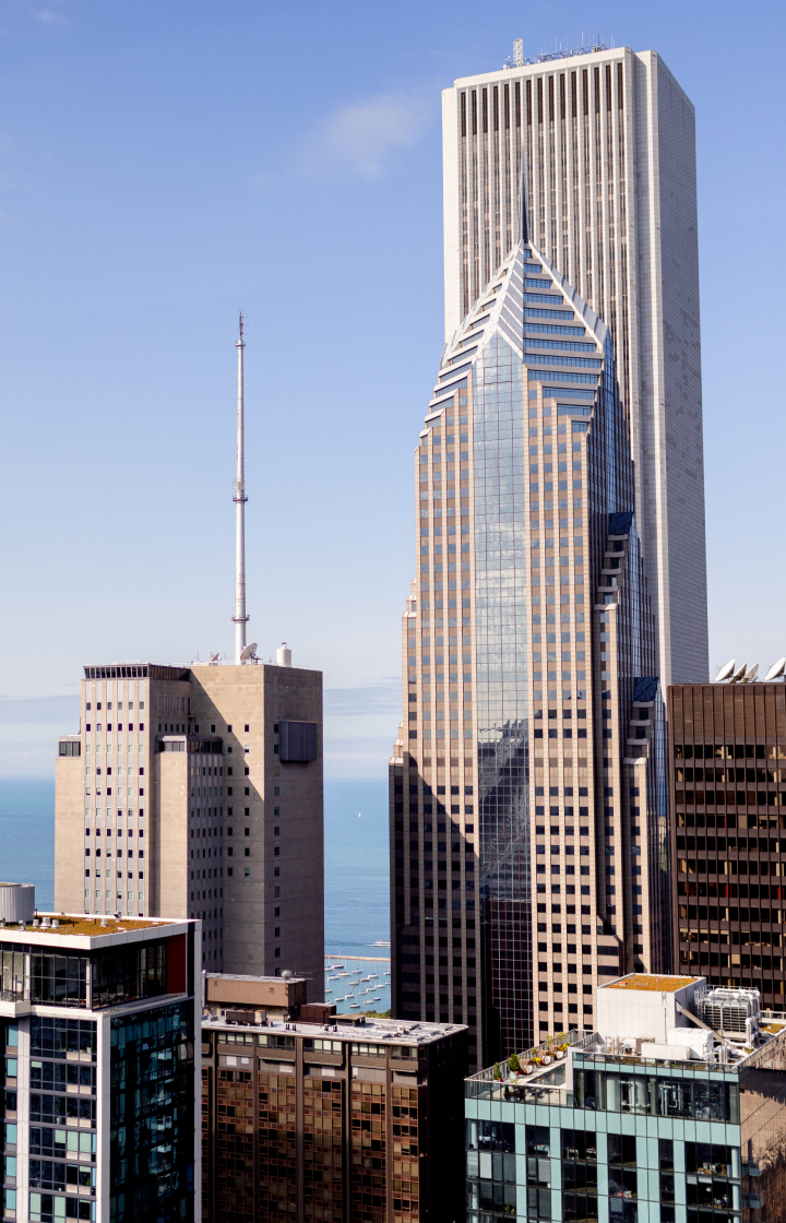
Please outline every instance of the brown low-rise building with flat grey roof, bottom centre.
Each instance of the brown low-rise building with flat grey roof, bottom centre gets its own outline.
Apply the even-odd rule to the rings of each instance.
[[[304,985],[208,978],[203,1218],[462,1218],[466,1029],[330,1015]]]

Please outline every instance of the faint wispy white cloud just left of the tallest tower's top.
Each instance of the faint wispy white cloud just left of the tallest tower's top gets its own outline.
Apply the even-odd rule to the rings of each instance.
[[[439,114],[424,91],[378,93],[324,115],[298,141],[285,166],[260,181],[331,177],[347,172],[379,179],[396,153],[411,148]]]

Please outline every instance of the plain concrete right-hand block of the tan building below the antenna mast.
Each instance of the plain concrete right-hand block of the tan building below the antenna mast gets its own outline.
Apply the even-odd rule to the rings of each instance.
[[[224,893],[224,970],[262,976],[288,967],[308,977],[312,999],[321,999],[321,673],[260,665],[199,667],[192,675],[194,725],[226,734],[226,762],[232,769],[226,807],[227,854],[232,850],[226,867],[232,876]],[[318,724],[315,761],[281,761],[274,728],[285,718]],[[285,947],[275,938],[276,927],[286,929]]]

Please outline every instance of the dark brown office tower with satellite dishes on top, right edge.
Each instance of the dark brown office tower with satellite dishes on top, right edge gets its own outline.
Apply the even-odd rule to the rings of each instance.
[[[782,1010],[786,687],[670,687],[669,737],[675,971]]]

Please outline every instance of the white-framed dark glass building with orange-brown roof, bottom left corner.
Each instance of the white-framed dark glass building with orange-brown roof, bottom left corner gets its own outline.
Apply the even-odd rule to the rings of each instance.
[[[0,928],[4,1219],[198,1223],[198,923],[22,907]]]

